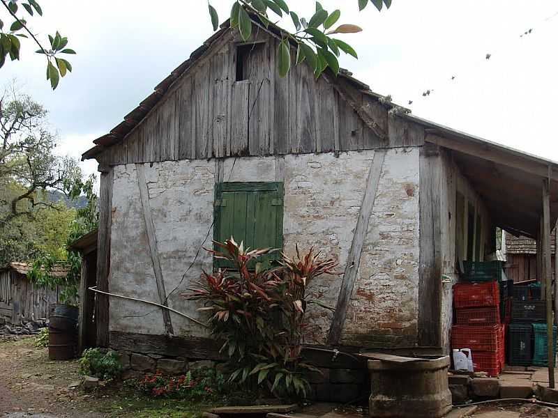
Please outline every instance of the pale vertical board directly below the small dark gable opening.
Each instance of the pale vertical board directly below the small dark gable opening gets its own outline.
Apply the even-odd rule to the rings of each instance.
[[[248,155],[250,82],[236,82],[231,95],[231,155]]]

